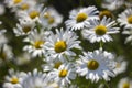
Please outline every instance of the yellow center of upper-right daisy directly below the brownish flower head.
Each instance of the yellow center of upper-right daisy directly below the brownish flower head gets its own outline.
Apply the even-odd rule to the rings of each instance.
[[[95,31],[97,35],[105,35],[107,33],[107,28],[105,25],[98,25]]]

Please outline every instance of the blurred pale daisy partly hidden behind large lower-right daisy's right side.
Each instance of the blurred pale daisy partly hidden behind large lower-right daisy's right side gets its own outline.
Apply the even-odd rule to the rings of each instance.
[[[123,57],[119,56],[116,58],[116,68],[113,72],[118,75],[124,73],[127,70],[128,62],[123,59]]]

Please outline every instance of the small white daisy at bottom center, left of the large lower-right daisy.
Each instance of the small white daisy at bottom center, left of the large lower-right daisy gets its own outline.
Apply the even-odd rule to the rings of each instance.
[[[53,69],[50,73],[51,79],[56,81],[58,86],[67,86],[76,78],[75,66],[73,64],[62,64],[58,69]]]

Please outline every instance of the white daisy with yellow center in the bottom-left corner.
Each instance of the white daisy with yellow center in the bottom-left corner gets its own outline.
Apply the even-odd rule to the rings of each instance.
[[[22,88],[21,82],[26,76],[23,72],[14,72],[14,69],[9,69],[9,75],[6,76],[6,81],[3,88]]]

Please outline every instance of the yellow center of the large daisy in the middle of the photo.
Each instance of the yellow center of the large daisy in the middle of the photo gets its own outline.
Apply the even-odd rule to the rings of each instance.
[[[55,48],[56,53],[62,53],[62,52],[66,51],[66,47],[67,47],[67,45],[66,45],[65,41],[58,41],[55,43],[54,48]]]

